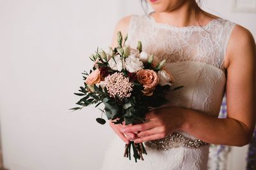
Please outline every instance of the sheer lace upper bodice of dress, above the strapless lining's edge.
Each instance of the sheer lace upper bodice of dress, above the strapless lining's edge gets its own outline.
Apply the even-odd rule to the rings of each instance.
[[[168,62],[198,61],[224,69],[223,61],[234,23],[223,18],[207,25],[175,27],[157,23],[147,15],[132,15],[127,43],[136,47],[142,41],[143,50]]]

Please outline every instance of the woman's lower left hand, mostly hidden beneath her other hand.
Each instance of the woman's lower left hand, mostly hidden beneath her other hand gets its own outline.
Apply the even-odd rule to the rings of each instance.
[[[121,129],[124,129],[125,127],[129,125],[122,125],[122,124],[114,124],[111,120],[109,120],[109,125],[113,129],[113,131],[116,132],[116,134],[127,144],[129,144],[129,139],[135,138],[135,134],[132,132],[121,132]],[[126,137],[125,137],[126,136]]]

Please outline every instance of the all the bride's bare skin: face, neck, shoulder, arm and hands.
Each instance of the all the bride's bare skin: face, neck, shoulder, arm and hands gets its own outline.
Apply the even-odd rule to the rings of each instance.
[[[195,18],[196,2],[193,0],[148,1],[155,13],[156,22],[186,27],[206,25],[218,18],[205,11]],[[207,16],[205,16],[206,14]],[[116,25],[112,46],[116,44],[116,32],[127,33],[131,16],[122,18]],[[198,23],[199,22],[199,23]],[[125,142],[135,143],[164,138],[166,135],[182,130],[207,143],[216,145],[244,146],[250,143],[255,127],[256,92],[256,47],[250,31],[236,25],[228,41],[224,67],[227,69],[227,118],[215,118],[195,110],[178,106],[159,108],[147,113],[147,123],[138,125],[110,126]]]

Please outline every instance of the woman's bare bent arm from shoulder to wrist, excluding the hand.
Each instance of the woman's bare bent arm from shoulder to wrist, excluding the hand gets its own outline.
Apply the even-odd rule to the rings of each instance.
[[[237,25],[230,37],[225,60],[227,118],[216,119],[192,111],[184,131],[214,144],[243,146],[250,142],[256,113],[255,57],[252,34]]]

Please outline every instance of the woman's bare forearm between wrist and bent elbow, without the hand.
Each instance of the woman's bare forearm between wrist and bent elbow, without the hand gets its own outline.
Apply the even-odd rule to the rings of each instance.
[[[181,130],[207,143],[244,146],[252,138],[252,131],[233,118],[215,118],[185,108],[183,114]]]

